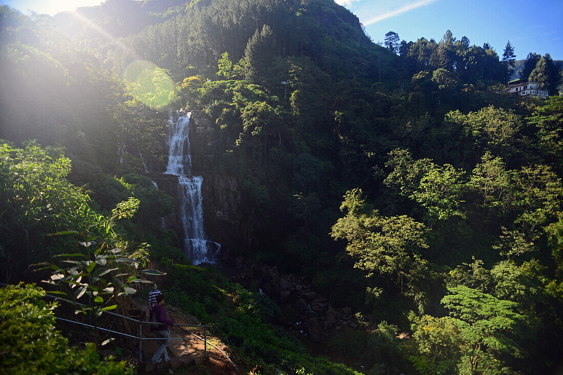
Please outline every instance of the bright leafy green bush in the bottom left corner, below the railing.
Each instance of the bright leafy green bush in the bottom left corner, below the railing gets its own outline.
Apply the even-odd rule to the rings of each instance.
[[[83,351],[68,347],[56,330],[56,304],[44,301],[45,292],[30,285],[0,289],[2,367],[14,374],[133,374],[125,362],[100,360],[96,346]]]

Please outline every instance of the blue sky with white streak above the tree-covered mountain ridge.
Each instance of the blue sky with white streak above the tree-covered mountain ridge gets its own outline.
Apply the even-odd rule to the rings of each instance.
[[[488,42],[502,55],[506,42],[516,58],[528,52],[549,53],[563,60],[563,0],[336,0],[366,26],[374,42],[387,31],[401,39],[440,40],[446,30],[468,37],[471,44]],[[73,10],[100,0],[0,0],[21,11],[49,13]]]

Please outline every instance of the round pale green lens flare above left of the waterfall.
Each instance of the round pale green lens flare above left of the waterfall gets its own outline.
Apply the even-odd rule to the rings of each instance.
[[[161,109],[173,100],[176,84],[153,62],[131,62],[123,71],[123,79],[131,83],[133,95],[151,108]]]

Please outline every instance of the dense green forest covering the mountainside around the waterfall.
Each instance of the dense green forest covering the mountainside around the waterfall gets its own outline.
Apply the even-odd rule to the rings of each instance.
[[[516,64],[510,42],[499,55],[449,30],[390,31],[380,46],[332,0],[2,6],[0,49],[1,282],[48,279],[101,314],[125,309],[158,262],[162,290],[218,323],[247,373],[561,371],[563,97],[549,54]],[[515,74],[550,97],[511,96]],[[162,113],[180,109],[213,129],[199,168],[236,181],[230,250],[354,311],[328,358],[276,334],[277,297],[191,265],[162,227],[173,198],[145,165],[163,170]],[[42,293],[3,288],[0,324],[41,315],[48,336]],[[6,313],[18,300],[29,318]],[[5,337],[0,362],[25,373],[10,354],[25,340],[76,356],[57,335]],[[86,350],[83,373],[132,371]],[[59,356],[52,373],[73,365]]]

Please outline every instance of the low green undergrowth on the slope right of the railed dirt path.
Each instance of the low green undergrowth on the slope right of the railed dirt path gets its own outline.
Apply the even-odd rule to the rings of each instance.
[[[186,288],[186,285],[189,286]],[[213,268],[176,264],[163,291],[167,301],[216,329],[229,345],[267,366],[292,373],[304,368],[314,374],[358,374],[341,364],[306,354],[301,344],[267,323],[279,308],[269,297],[230,283]],[[283,332],[283,331],[282,331]]]

